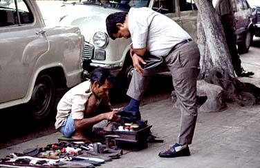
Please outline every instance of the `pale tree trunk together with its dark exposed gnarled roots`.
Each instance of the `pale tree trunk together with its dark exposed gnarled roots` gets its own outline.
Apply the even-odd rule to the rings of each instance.
[[[230,51],[225,40],[223,26],[212,5],[212,0],[194,0],[198,8],[198,48],[201,52],[199,79],[223,87],[223,98],[239,105],[260,102],[259,88],[241,83],[234,76]]]

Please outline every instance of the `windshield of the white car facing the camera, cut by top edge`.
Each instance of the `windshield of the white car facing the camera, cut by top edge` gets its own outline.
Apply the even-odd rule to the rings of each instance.
[[[150,0],[128,0],[128,1],[108,1],[108,0],[81,0],[81,1],[64,1],[64,3],[83,3],[84,5],[103,6],[104,8],[115,8],[118,10],[128,11],[131,7],[140,8],[148,7]]]

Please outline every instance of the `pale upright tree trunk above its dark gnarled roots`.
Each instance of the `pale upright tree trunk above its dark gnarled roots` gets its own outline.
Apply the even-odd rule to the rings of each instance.
[[[201,52],[201,78],[218,68],[234,77],[223,26],[211,0],[194,0],[198,8],[198,47]]]

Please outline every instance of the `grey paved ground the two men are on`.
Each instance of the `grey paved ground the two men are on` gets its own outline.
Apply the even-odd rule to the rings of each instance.
[[[243,67],[254,71],[252,78],[240,78],[260,87],[259,48],[241,55]],[[130,151],[120,159],[106,162],[101,168],[122,167],[174,167],[174,168],[258,168],[260,167],[260,105],[241,107],[228,103],[228,109],[215,113],[198,113],[191,156],[159,158],[158,153],[175,143],[180,125],[180,111],[173,108],[171,99],[157,101],[140,107],[142,118],[152,125],[151,132],[163,138],[164,143],[150,143],[147,149]],[[22,151],[37,144],[42,147],[57,142],[58,132],[26,143],[0,150],[0,157]]]

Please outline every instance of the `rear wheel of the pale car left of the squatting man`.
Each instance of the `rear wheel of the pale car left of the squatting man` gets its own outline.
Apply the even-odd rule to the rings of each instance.
[[[32,117],[37,120],[46,118],[51,112],[54,101],[55,85],[53,79],[48,75],[39,76],[32,90],[29,103]]]

